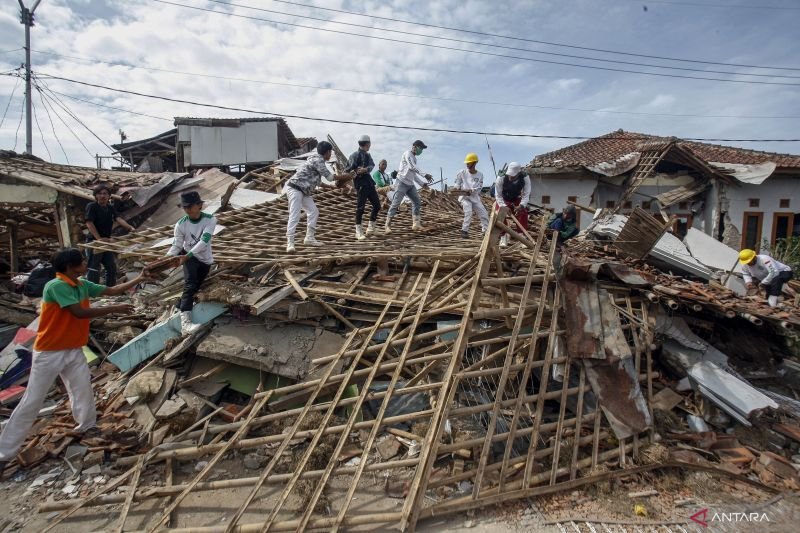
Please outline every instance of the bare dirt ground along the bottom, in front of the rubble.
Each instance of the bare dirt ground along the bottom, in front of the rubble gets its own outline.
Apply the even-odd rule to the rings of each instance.
[[[187,481],[194,475],[196,463],[183,463],[176,468],[175,482]],[[63,468],[56,478],[31,487],[34,480],[43,473]],[[57,515],[55,512],[38,513],[42,502],[75,498],[88,494],[107,482],[114,471],[104,468],[97,476],[82,476],[84,483],[75,484],[78,488],[72,494],[69,490],[70,478],[63,463],[51,461],[30,471],[22,471],[0,482],[0,532],[6,531],[42,531]],[[248,470],[243,466],[242,457],[233,457],[221,462],[209,475],[208,480],[229,479],[233,477],[249,477],[258,471]],[[393,495],[388,484],[402,486],[404,474],[396,474],[387,483],[383,474],[367,474],[366,482],[356,493],[352,509],[363,512],[399,512],[403,499]],[[148,471],[142,476],[140,485],[157,486],[163,484],[163,469]],[[331,488],[326,491],[327,501],[335,502],[338,495],[347,490],[347,477],[334,478]],[[253,501],[240,524],[260,523],[272,508],[282,486],[270,485],[262,489]],[[646,490],[657,491],[656,495],[630,497],[630,493]],[[217,491],[195,492],[187,497],[178,511],[174,513],[171,527],[224,527],[247,496],[249,489],[234,488]],[[300,497],[290,495],[287,501],[287,512],[281,513],[278,519],[292,519],[302,509]],[[161,510],[167,505],[167,499],[154,499],[146,504],[139,504],[131,511],[126,521],[126,531],[139,531],[152,524]],[[640,506],[640,507],[639,507]],[[709,517],[714,513],[758,512],[765,513],[768,523],[729,523],[710,524],[708,529],[702,528],[689,517],[694,513],[709,509]],[[89,531],[109,531],[118,525],[122,504],[92,507],[82,510],[56,528],[64,533],[85,533]],[[638,510],[638,514],[637,514]],[[325,509],[323,508],[323,512]],[[583,523],[593,521],[593,526]],[[636,477],[615,479],[614,481],[595,484],[583,490],[567,491],[548,497],[509,502],[499,506],[475,509],[445,517],[435,517],[419,523],[417,530],[425,533],[433,532],[466,532],[481,531],[500,532],[558,532],[558,531],[667,531],[656,528],[654,522],[677,522],[672,531],[760,531],[760,532],[796,532],[800,520],[800,495],[783,494],[775,497],[748,485],[736,483],[730,479],[712,477],[709,474],[695,471],[647,473]],[[561,529],[553,521],[562,521]],[[574,521],[574,525],[570,524]],[[624,522],[623,524],[615,522]],[[606,525],[602,525],[605,523]],[[607,528],[607,529],[604,529]],[[376,528],[363,526],[360,531],[393,531],[396,528]]]

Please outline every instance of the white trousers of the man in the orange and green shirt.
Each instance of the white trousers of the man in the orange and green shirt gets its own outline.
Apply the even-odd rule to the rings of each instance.
[[[0,434],[0,461],[10,461],[17,455],[42,408],[47,392],[58,376],[61,376],[69,393],[72,416],[78,423],[75,431],[83,432],[95,426],[97,412],[94,407],[92,376],[83,350],[72,348],[33,352],[31,375],[25,394]]]

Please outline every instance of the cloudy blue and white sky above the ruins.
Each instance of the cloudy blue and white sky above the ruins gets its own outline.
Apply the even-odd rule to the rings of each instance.
[[[101,140],[119,142],[119,129],[133,140],[171,128],[174,116],[254,116],[47,76],[393,126],[793,139],[800,137],[798,23],[795,0],[43,0],[32,49],[47,96],[34,94],[33,148],[46,159],[93,166],[95,153],[109,154]],[[0,0],[0,72],[20,65],[23,44],[16,0]],[[0,76],[0,112],[8,106],[0,148],[25,148],[22,94],[17,78]],[[431,174],[442,167],[452,177],[471,151],[491,173],[483,135],[288,122],[297,136],[330,133],[347,152],[367,133],[376,161],[388,159],[390,169],[420,138],[429,146],[420,165]],[[488,139],[498,166],[577,142]],[[797,142],[732,144],[800,153]]]

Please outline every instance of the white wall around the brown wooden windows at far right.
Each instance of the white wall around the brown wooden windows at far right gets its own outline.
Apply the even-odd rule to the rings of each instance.
[[[772,219],[775,213],[800,213],[800,176],[771,177],[761,185],[725,186],[728,199],[728,216],[731,223],[741,232],[745,212],[763,213],[761,237],[758,242],[772,238]],[[758,207],[750,207],[750,199],[759,200]],[[789,199],[789,208],[779,205],[782,198]],[[724,206],[723,206],[724,207]]]

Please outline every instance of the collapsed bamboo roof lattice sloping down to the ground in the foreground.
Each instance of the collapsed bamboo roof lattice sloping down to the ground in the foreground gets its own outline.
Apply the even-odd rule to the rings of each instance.
[[[169,497],[157,516],[136,515],[141,529],[163,530],[193,493],[231,489],[242,489],[244,495],[223,524],[190,524],[171,531],[323,527],[334,531],[359,525],[414,530],[427,517],[568,486],[570,480],[587,475],[601,463],[624,466],[638,453],[645,435],[610,446],[609,425],[591,393],[584,366],[558,349],[559,337],[567,332],[553,272],[555,241],[547,238],[544,224],[530,232],[518,227],[519,235],[514,234],[518,244],[501,254],[500,235],[509,229],[506,222],[513,224],[513,219],[505,220],[505,214],[505,209],[492,214],[490,230],[457,266],[450,260],[462,257],[466,250],[460,241],[441,246],[440,255],[426,256],[427,243],[414,244],[410,235],[399,231],[399,246],[408,247],[408,253],[420,252],[415,257],[431,259],[431,264],[427,270],[408,265],[392,270],[395,280],[384,282],[380,292],[373,289],[372,294],[379,296],[359,291],[358,277],[347,287],[317,282],[301,288],[337,298],[343,305],[369,305],[378,311],[373,320],[353,326],[335,355],[315,360],[319,369],[314,379],[255,394],[244,420],[222,425],[206,421],[205,427],[190,428],[169,447],[120,460],[119,465],[128,469],[89,497],[43,505],[42,512],[63,511],[48,530],[87,507],[122,503],[115,527],[121,531],[133,520],[131,511],[137,506]],[[252,229],[253,222],[244,218],[237,220]],[[458,218],[452,214],[447,218],[429,213],[431,219],[441,232],[458,228]],[[402,223],[401,218],[398,224]],[[349,223],[336,224],[340,233],[349,233]],[[275,233],[281,235],[277,229]],[[442,244],[447,241],[430,236]],[[235,238],[225,242],[231,244]],[[263,238],[269,242],[269,235]],[[341,235],[329,238],[343,240]],[[224,255],[222,241],[216,246]],[[339,252],[323,249],[321,253],[335,256]],[[255,258],[257,252],[251,255]],[[369,266],[366,257],[362,263]],[[621,320],[627,324],[636,372],[647,385],[649,399],[652,337],[646,327],[647,309],[641,301],[632,300],[624,287],[618,291]],[[376,388],[379,383],[381,387]],[[393,412],[396,401],[408,395],[422,395],[428,407]],[[367,402],[377,405],[371,418],[364,415]],[[376,453],[378,441],[387,432],[397,432],[393,426],[399,423],[417,428],[416,433],[401,433],[416,441],[419,453],[381,459]],[[251,436],[253,431],[259,435]],[[341,463],[344,451],[354,445],[359,450],[357,460]],[[230,452],[264,446],[270,448],[271,458],[259,475],[208,480]],[[327,450],[322,463],[321,449]],[[287,454],[296,458],[288,468],[282,463]],[[442,464],[442,458],[450,457],[458,459]],[[165,476],[171,480],[175,462],[200,458],[207,463],[188,482],[141,484],[146,469],[163,463]],[[370,507],[366,495],[373,476],[368,473],[407,480],[402,507],[392,511]],[[461,482],[471,487],[466,495],[440,490]],[[124,493],[111,493],[123,484],[127,485]],[[305,487],[302,496],[301,487]],[[326,500],[327,512],[320,510],[320,502],[333,495]],[[257,520],[244,523],[245,515]]]

